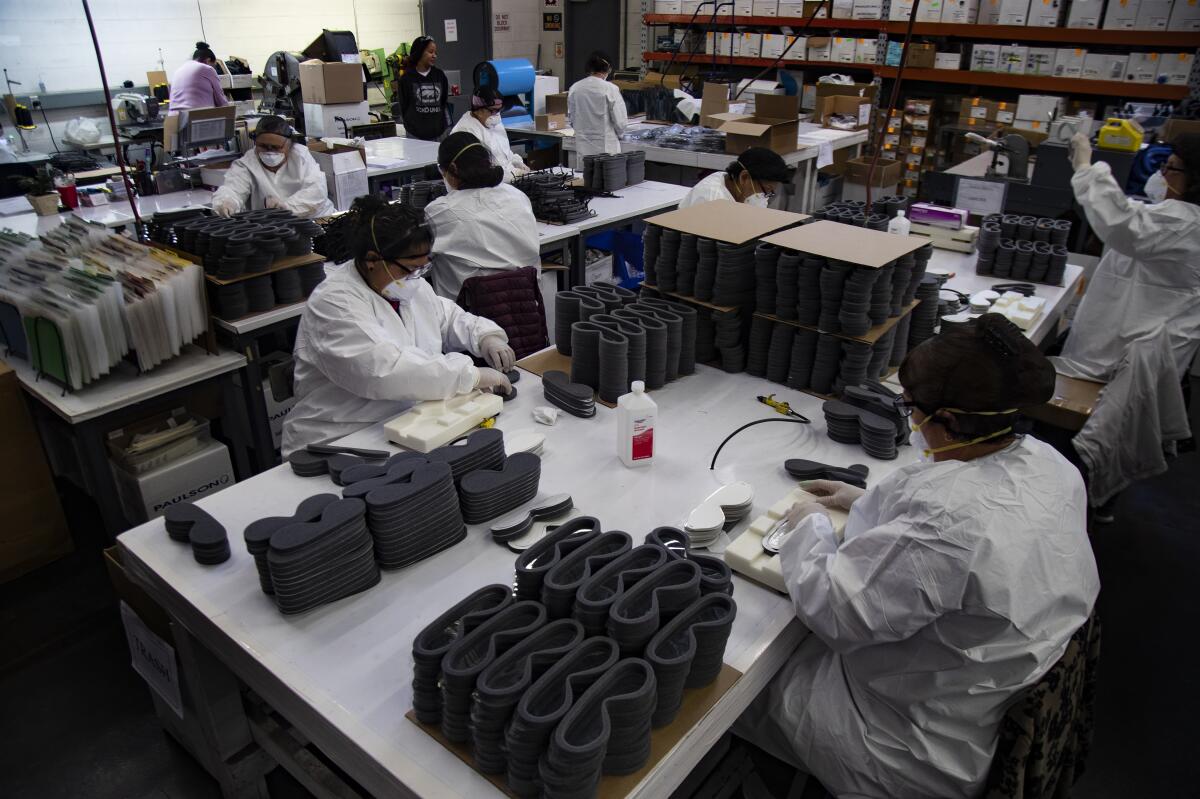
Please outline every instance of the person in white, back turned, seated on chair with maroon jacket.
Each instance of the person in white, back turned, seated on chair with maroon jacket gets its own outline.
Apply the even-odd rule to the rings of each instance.
[[[504,182],[504,170],[479,139],[448,136],[438,146],[438,169],[449,193],[425,206],[438,294],[457,300],[467,278],[541,263],[529,198]]]

